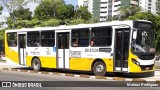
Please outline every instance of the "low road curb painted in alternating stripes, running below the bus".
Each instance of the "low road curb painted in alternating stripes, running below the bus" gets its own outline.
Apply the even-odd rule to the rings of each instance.
[[[37,74],[45,74],[45,75],[57,75],[57,76],[67,76],[67,77],[80,77],[80,78],[92,78],[92,79],[103,79],[103,80],[111,80],[111,81],[131,81],[131,82],[148,82],[142,78],[123,78],[123,77],[106,77],[106,76],[90,76],[84,74],[70,74],[70,73],[59,73],[59,72],[46,72],[46,71],[34,71],[34,70],[21,70],[15,68],[0,68],[0,70],[4,71],[18,71],[18,72],[28,72],[28,73],[37,73]],[[160,84],[160,80],[155,80],[157,84]]]

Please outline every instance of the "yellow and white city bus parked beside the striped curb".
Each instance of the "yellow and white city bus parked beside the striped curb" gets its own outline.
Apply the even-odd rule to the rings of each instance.
[[[5,31],[6,61],[42,68],[106,72],[153,72],[153,24],[112,21]]]

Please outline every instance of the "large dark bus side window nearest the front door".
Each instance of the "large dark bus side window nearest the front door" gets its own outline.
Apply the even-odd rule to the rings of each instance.
[[[91,46],[110,46],[112,43],[111,27],[95,27],[91,30]]]

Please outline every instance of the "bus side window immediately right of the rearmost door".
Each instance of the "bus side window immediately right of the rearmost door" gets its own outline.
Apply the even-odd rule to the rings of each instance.
[[[39,31],[28,32],[27,33],[27,46],[29,47],[39,47]]]

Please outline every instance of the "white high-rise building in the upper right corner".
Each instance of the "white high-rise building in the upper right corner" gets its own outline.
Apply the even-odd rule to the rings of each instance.
[[[151,11],[156,14],[156,2],[157,0],[139,0],[139,7],[142,8],[142,11]]]

